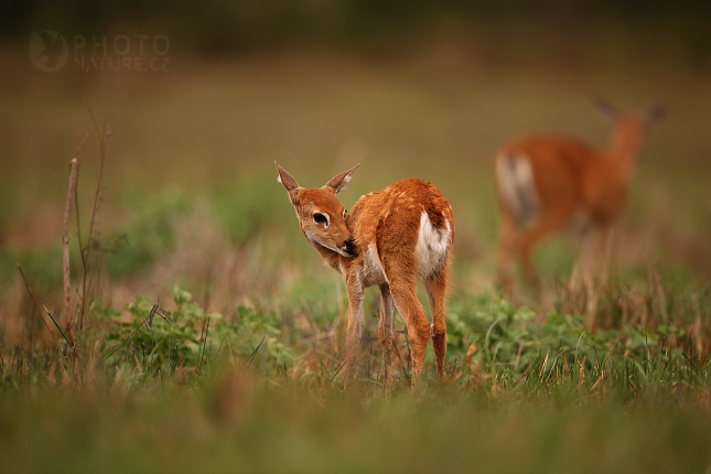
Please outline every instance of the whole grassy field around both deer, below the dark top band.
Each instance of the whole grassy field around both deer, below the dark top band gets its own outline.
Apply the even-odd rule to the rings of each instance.
[[[711,466],[708,74],[492,67],[456,50],[390,62],[175,58],[144,75],[39,75],[11,52],[2,63],[8,472]],[[668,117],[646,141],[591,333],[583,295],[565,291],[575,246],[564,238],[537,252],[541,299],[523,281],[510,299],[495,289],[492,160],[530,131],[605,143],[594,93],[622,108],[657,100]],[[18,263],[63,326],[62,216],[77,138],[84,243],[99,170],[87,104],[111,137],[75,353],[35,309]],[[306,186],[359,162],[340,195],[346,207],[411,176],[448,196],[457,234],[442,386],[430,349],[422,387],[409,389],[397,316],[396,383],[383,392],[368,293],[359,384],[343,391],[343,286],[301,236],[274,160]],[[72,274],[76,306],[74,219]]]

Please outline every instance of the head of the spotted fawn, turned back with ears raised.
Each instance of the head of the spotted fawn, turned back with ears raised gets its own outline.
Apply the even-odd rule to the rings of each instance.
[[[346,209],[336,198],[348,181],[356,164],[348,171],[332,177],[322,187],[301,187],[297,180],[274,161],[279,171],[279,182],[289,192],[291,204],[297,211],[299,225],[306,240],[314,247],[321,246],[344,257],[356,254],[353,235],[346,226]]]

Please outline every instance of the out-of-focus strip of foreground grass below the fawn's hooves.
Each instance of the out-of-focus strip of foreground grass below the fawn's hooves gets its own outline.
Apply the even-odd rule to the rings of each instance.
[[[13,418],[26,424],[3,417],[13,440],[3,443],[3,460],[13,472],[682,473],[709,465],[710,420],[694,408],[631,412],[614,403],[561,409],[518,402],[502,409],[439,392],[364,406],[341,397],[314,400],[295,389],[255,390],[258,400],[227,422],[209,394],[101,394],[93,403],[69,394],[49,400],[53,407],[12,400]]]

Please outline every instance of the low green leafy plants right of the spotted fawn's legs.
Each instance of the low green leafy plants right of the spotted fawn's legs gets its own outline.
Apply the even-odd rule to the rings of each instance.
[[[585,331],[583,317],[551,313],[537,324],[527,308],[516,308],[506,300],[470,300],[454,304],[448,321],[450,357],[463,358],[472,345],[477,346],[474,359],[489,370],[504,368],[525,374],[543,358],[567,360],[569,367],[580,363],[597,367],[611,355],[646,360],[651,349],[664,352],[669,362],[685,364],[679,348],[667,349],[667,336],[682,337],[685,330],[660,325],[657,330],[627,326],[623,331]]]

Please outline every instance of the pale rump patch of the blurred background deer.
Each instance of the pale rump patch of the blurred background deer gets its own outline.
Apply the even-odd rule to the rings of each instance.
[[[526,155],[498,155],[496,181],[502,198],[518,227],[524,227],[538,217],[540,201],[534,182],[534,169]]]

